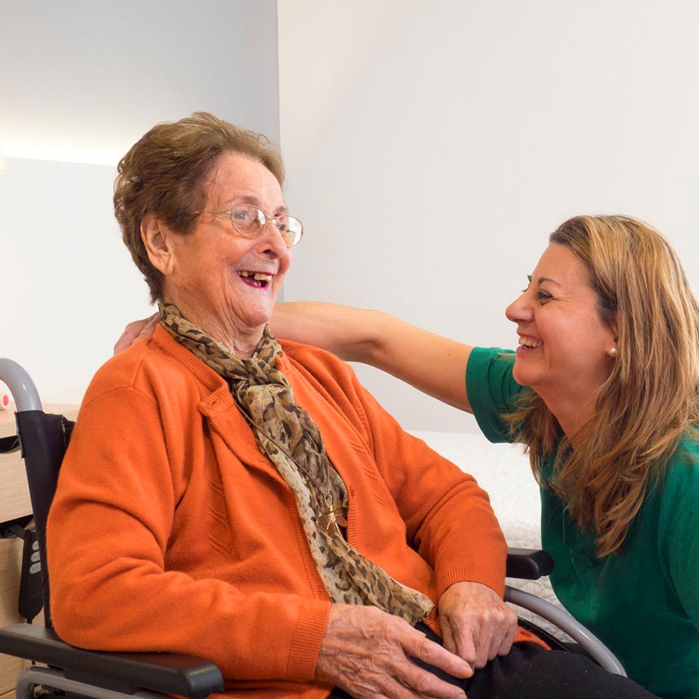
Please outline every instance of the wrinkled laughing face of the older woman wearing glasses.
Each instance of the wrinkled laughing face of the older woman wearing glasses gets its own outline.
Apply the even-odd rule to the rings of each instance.
[[[274,175],[238,153],[219,157],[206,194],[204,210],[230,210],[239,203],[252,203],[272,217],[287,210]],[[165,301],[231,349],[254,344],[289,268],[289,249],[278,229],[269,223],[259,238],[243,238],[229,216],[203,213],[192,233],[171,235],[169,246]]]

